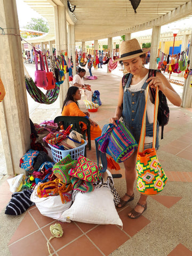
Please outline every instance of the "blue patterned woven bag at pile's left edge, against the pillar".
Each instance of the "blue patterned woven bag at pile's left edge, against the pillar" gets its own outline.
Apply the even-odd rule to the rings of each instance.
[[[23,157],[21,157],[19,166],[25,171],[33,169],[34,160],[38,156],[38,154],[39,151],[29,149],[27,153]]]

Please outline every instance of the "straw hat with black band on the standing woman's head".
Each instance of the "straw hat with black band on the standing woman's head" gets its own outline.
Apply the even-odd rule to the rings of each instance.
[[[119,60],[129,60],[135,57],[138,57],[142,55],[143,53],[146,53],[150,50],[150,48],[147,48],[145,50],[141,49],[141,46],[136,38],[133,38],[129,41],[124,41],[121,43],[120,46],[120,58],[117,58],[114,60],[114,62]]]

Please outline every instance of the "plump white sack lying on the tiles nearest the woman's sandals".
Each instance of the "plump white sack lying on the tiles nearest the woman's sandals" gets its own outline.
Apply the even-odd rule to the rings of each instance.
[[[92,192],[77,193],[71,207],[61,214],[60,220],[94,224],[116,224],[123,227],[114,204],[114,196],[107,187]]]

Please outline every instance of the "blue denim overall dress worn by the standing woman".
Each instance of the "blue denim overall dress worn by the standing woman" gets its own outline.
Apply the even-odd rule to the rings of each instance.
[[[145,109],[146,97],[145,90],[148,83],[144,83],[141,87],[141,91],[130,92],[129,86],[131,84],[132,75],[130,74],[129,79],[126,83],[124,94],[123,94],[123,123],[127,129],[132,133],[133,137],[139,144],[142,118]],[[149,97],[149,96],[148,96]],[[157,122],[157,134],[156,134],[156,145],[155,148],[158,149],[159,125]],[[149,123],[148,116],[146,115],[146,136],[153,137],[153,123]],[[148,147],[145,147],[145,149]],[[150,148],[152,148],[152,143],[150,143]]]

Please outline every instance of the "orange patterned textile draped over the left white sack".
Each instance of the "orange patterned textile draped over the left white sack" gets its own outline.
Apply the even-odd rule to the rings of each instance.
[[[40,183],[37,188],[37,195],[39,198],[60,195],[61,201],[64,204],[69,202],[68,191],[72,190],[71,183],[69,185],[63,184],[59,179],[53,181]]]

